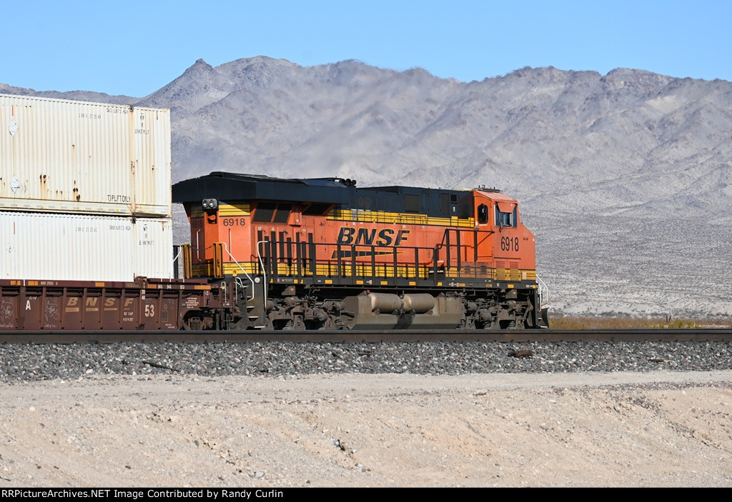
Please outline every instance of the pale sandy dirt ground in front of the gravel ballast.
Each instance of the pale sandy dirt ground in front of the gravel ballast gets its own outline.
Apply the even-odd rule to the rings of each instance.
[[[732,486],[732,371],[3,384],[0,487]]]

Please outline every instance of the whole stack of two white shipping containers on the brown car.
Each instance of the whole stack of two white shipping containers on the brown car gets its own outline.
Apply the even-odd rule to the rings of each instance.
[[[0,278],[171,278],[169,110],[0,94]]]

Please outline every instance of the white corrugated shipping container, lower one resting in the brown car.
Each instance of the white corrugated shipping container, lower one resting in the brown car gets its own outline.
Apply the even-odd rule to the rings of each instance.
[[[133,281],[173,277],[171,218],[0,211],[0,278]]]

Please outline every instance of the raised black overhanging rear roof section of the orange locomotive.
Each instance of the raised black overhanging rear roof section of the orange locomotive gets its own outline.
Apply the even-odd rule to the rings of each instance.
[[[201,202],[202,199],[210,198],[346,204],[353,199],[354,192],[353,186],[346,186],[335,178],[297,180],[212,172],[210,175],[173,185],[173,202]]]

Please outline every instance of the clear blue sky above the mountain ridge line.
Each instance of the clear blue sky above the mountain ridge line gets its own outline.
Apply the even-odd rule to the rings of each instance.
[[[10,1],[0,83],[145,96],[198,58],[345,59],[482,80],[523,66],[732,80],[728,1]]]

